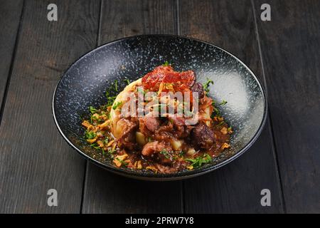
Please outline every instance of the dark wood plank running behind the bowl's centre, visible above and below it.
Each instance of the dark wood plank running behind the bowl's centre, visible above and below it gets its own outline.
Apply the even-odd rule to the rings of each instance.
[[[141,33],[176,33],[175,1],[104,1],[101,43]],[[87,167],[84,213],[181,212],[181,182],[129,180]]]

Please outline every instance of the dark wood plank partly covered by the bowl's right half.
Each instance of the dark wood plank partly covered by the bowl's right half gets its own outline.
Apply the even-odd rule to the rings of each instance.
[[[250,0],[179,1],[182,35],[200,38],[240,57],[260,78],[262,70]],[[272,206],[260,204],[262,189]],[[272,135],[267,123],[260,138],[238,160],[184,185],[186,212],[282,212]]]

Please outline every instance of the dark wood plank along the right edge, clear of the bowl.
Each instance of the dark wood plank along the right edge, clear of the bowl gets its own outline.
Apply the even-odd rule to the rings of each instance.
[[[320,212],[320,1],[255,1],[287,212]]]

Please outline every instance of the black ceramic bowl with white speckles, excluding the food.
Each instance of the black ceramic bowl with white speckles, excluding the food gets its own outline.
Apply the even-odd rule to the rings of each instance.
[[[211,164],[174,174],[114,167],[108,157],[87,145],[81,118],[89,115],[88,106],[107,102],[105,90],[112,81],[121,82],[119,87],[124,88],[125,78],[137,80],[165,61],[173,64],[176,71],[195,71],[201,83],[207,78],[214,81],[210,96],[218,103],[228,101],[220,111],[234,130],[231,149]],[[262,86],[242,61],[210,43],[181,36],[133,36],[100,46],[70,66],[53,94],[53,117],[58,130],[80,155],[112,172],[144,180],[181,180],[222,167],[255,142],[266,115]]]

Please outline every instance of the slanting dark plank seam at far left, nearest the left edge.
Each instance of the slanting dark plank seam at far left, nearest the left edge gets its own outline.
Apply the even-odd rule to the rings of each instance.
[[[21,9],[21,15],[20,15],[20,19],[19,19],[19,25],[18,25],[18,31],[16,33],[16,41],[14,41],[14,52],[12,53],[11,63],[10,63],[10,68],[9,68],[9,74],[8,74],[8,78],[6,79],[6,86],[4,88],[4,95],[3,95],[2,104],[1,104],[1,108],[0,108],[0,127],[1,127],[2,117],[4,115],[4,108],[6,106],[6,97],[7,97],[8,92],[9,92],[11,76],[12,76],[12,72],[14,71],[14,62],[15,62],[15,59],[16,59],[16,52],[17,52],[17,49],[18,49],[18,40],[20,38],[20,33],[21,33],[24,6],[25,6],[25,1],[23,0],[22,9]]]

